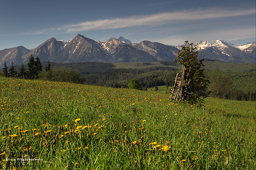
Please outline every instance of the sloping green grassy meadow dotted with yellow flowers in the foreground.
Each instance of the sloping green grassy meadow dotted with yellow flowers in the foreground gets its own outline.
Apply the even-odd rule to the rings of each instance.
[[[0,169],[255,170],[256,103],[0,77]]]

